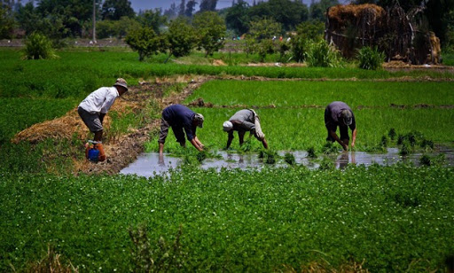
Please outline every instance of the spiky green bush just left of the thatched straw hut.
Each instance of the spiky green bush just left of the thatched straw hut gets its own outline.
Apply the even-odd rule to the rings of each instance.
[[[308,66],[337,67],[341,62],[339,51],[336,51],[325,40],[309,43],[305,59]]]

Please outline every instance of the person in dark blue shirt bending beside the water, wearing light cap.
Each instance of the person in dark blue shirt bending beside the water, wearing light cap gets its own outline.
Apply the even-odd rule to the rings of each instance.
[[[194,113],[191,109],[184,105],[170,105],[162,111],[162,118],[160,120],[160,157],[164,151],[164,143],[168,135],[168,128],[171,127],[176,136],[176,141],[182,146],[186,146],[184,132],[191,144],[200,152],[205,147],[200,143],[199,138],[196,136],[197,127],[203,127],[203,115],[201,113]],[[184,130],[184,132],[183,132]]]

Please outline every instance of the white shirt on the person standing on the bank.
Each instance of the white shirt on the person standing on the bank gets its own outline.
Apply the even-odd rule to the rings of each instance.
[[[107,113],[119,96],[118,90],[114,86],[101,87],[82,100],[79,107],[90,113]]]

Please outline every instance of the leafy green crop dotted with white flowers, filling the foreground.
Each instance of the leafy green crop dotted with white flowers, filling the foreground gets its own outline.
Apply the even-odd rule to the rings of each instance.
[[[454,252],[452,168],[265,168],[169,179],[2,175],[0,270],[55,246],[83,270],[130,269],[129,228],[182,225],[184,271],[270,272],[309,261],[372,271],[443,269]]]

